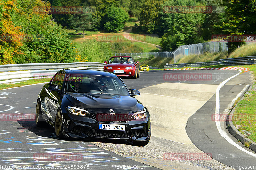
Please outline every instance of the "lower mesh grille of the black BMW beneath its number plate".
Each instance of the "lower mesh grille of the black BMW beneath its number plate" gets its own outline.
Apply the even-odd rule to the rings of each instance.
[[[129,131],[115,131],[115,130],[99,130],[92,129],[91,131],[92,137],[105,137],[105,138],[128,138]]]

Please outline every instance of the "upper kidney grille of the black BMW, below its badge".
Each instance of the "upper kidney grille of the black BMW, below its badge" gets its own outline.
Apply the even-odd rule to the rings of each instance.
[[[115,122],[115,123],[125,123],[132,115],[129,114],[123,114],[123,113],[117,113],[114,115],[111,115],[109,113],[96,113],[95,118],[99,122]]]

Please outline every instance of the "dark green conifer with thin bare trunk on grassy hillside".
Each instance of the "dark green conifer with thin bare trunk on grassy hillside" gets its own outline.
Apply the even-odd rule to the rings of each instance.
[[[82,14],[74,14],[69,19],[71,28],[75,29],[76,31],[83,30],[83,38],[84,38],[84,30],[92,30],[95,28],[96,19],[92,18],[92,11],[89,7],[85,7],[83,9]]]

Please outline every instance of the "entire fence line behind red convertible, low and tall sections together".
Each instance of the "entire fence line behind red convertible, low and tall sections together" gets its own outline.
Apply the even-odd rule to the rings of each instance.
[[[190,45],[182,45],[179,46],[175,51],[164,51],[164,52],[149,52],[149,53],[113,53],[113,56],[131,56],[133,58],[149,58],[150,56],[153,57],[171,57],[174,58],[174,63],[182,58],[183,56],[187,55],[201,55],[204,52],[220,52],[220,51],[227,51],[228,46],[226,41],[210,41],[205,43],[199,44],[190,44]]]

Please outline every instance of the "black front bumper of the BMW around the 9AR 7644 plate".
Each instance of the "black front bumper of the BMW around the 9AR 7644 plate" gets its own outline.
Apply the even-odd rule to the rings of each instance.
[[[100,130],[99,124],[117,124],[125,125],[125,131],[117,130]],[[125,123],[99,122],[93,117],[82,117],[63,114],[63,130],[67,137],[84,138],[84,139],[123,139],[127,141],[144,141],[150,137],[151,124],[150,116],[130,120]]]

